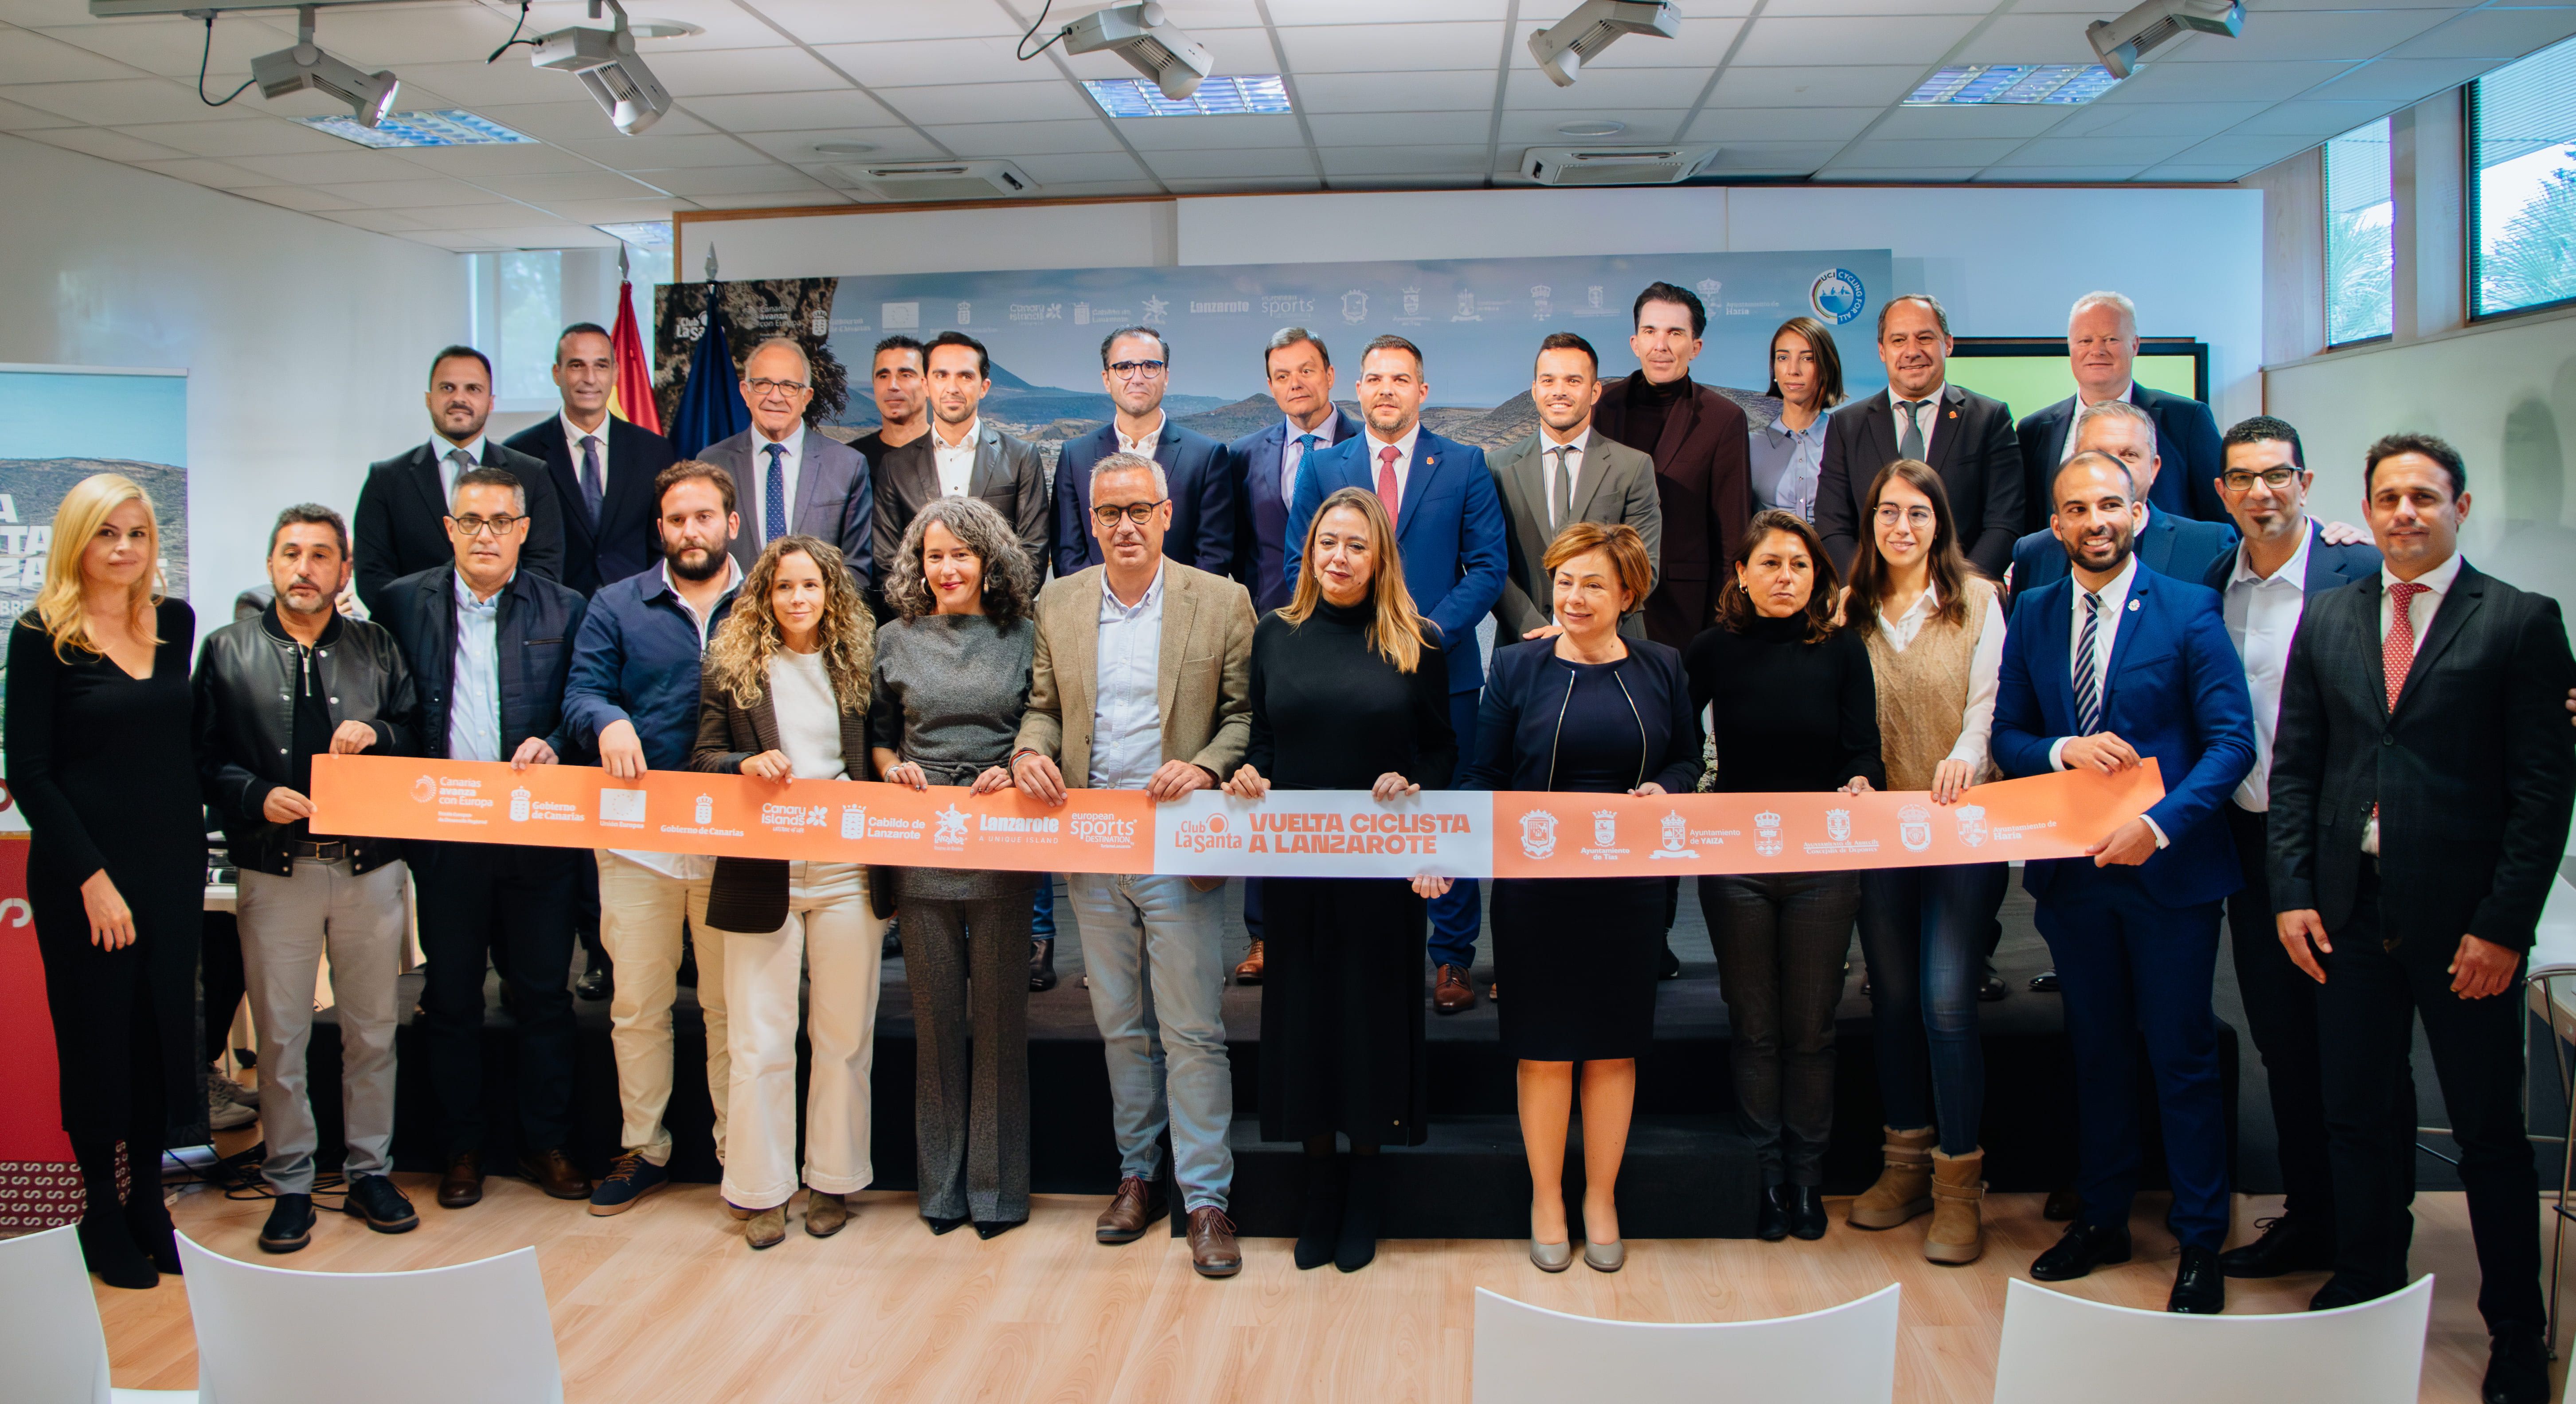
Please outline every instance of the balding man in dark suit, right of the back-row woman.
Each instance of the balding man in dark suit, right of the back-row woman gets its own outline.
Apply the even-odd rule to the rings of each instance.
[[[1896,459],[1932,464],[1950,495],[1968,562],[2002,580],[2022,533],[2022,456],[2012,407],[1947,384],[1950,314],[1932,294],[1904,294],[1878,309],[1878,361],[1888,389],[1844,402],[1824,428],[1816,474],[1816,533],[1834,569],[1852,574],[1868,538],[1870,479]]]

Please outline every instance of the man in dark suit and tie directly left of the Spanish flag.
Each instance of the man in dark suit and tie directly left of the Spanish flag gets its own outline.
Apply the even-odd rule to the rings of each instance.
[[[672,461],[670,441],[608,412],[616,384],[608,330],[574,322],[554,337],[554,389],[564,410],[502,441],[546,464],[546,484],[564,505],[559,580],[585,600],[662,559],[652,479]]]

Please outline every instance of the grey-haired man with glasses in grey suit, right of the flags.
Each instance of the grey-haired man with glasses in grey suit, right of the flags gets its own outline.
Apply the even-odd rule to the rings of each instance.
[[[750,572],[781,536],[822,536],[840,546],[860,585],[876,580],[876,492],[868,459],[804,422],[814,404],[814,361],[793,337],[770,337],[742,363],[742,404],[752,428],[708,443],[701,461],[742,484],[742,531],[732,554]]]

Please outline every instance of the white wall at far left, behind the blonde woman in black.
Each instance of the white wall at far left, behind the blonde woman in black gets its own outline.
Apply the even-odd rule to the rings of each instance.
[[[201,611],[265,580],[278,508],[348,513],[368,461],[430,435],[464,258],[18,137],[0,188],[0,361],[188,371]]]

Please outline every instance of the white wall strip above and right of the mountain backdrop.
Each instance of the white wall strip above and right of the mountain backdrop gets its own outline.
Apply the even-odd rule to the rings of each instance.
[[[2262,407],[2259,191],[1680,185],[1193,196],[724,219],[683,224],[680,234],[675,268],[688,278],[698,276],[708,240],[726,278],[1886,247],[1899,289],[1940,296],[1958,335],[2063,335],[2076,296],[2120,289],[2138,301],[2146,335],[2210,343],[2221,422]]]

